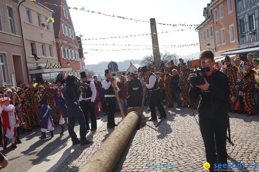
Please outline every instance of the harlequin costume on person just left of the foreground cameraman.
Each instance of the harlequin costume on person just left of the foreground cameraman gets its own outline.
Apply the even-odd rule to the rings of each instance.
[[[178,86],[182,87],[182,95],[183,95],[183,106],[190,105],[190,99],[188,97],[188,91],[190,88],[190,85],[188,85],[188,77],[190,75],[190,70],[187,68],[186,65],[181,64],[180,67],[184,68],[184,70],[180,73]]]

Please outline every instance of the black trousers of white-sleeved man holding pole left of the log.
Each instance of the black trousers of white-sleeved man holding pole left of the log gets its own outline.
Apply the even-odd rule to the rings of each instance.
[[[115,126],[114,113],[116,112],[116,97],[105,97],[108,107],[107,127]]]

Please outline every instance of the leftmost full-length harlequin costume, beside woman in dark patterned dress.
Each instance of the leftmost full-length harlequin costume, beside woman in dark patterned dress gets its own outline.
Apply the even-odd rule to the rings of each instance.
[[[24,93],[24,90],[23,89],[20,89],[19,91],[19,97],[21,94]],[[32,116],[31,116],[31,113],[30,113],[30,103],[28,102],[28,100],[24,98],[21,98],[20,97],[20,100],[21,100],[21,110],[22,112],[24,113],[24,122],[27,122],[27,130],[32,130]],[[22,114],[21,114],[22,115]],[[22,128],[23,131],[25,131],[25,129]]]

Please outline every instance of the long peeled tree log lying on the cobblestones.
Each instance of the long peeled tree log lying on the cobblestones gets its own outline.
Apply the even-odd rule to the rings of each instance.
[[[138,112],[128,113],[79,172],[112,171],[130,140],[139,118]]]

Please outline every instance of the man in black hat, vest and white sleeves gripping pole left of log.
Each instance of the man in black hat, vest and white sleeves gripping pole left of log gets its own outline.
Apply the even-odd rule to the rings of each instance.
[[[116,94],[112,86],[112,81],[115,79],[110,76],[109,69],[106,69],[104,72],[104,76],[106,77],[106,80],[103,81],[103,88],[105,93],[104,97],[108,107],[107,128],[113,128],[114,126],[118,126],[118,124],[115,124],[114,121],[114,113],[116,112]],[[115,86],[118,91],[119,88],[116,83]]]

